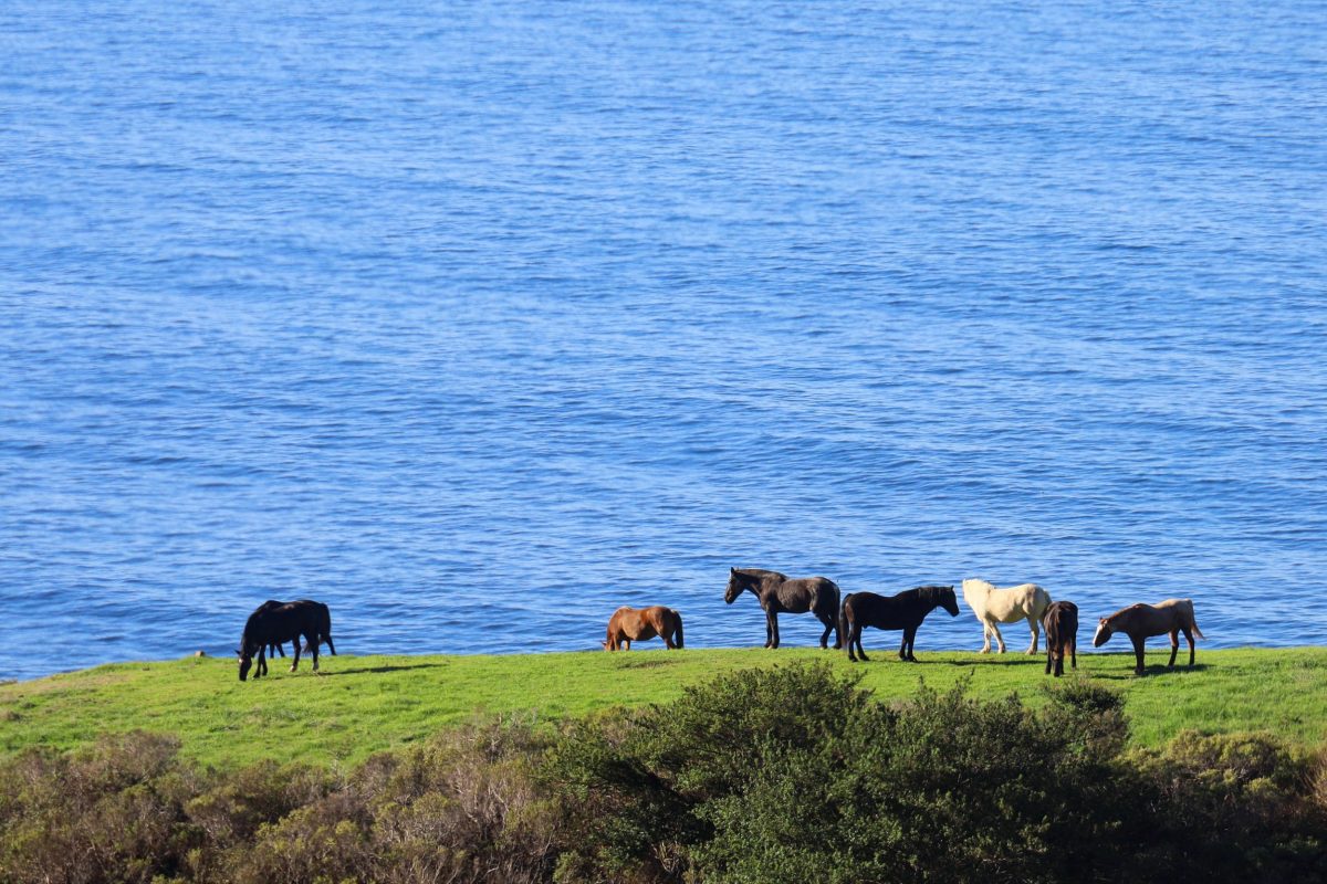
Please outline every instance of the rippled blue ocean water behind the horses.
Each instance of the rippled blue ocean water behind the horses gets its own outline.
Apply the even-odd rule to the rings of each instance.
[[[297,596],[342,652],[597,648],[622,603],[759,645],[730,566],[1323,643],[1324,28],[8,0],[0,676]]]

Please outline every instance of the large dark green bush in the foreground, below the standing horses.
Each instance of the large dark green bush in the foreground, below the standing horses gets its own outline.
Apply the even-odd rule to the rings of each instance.
[[[962,688],[888,708],[823,665],[721,677],[564,734],[564,877],[1062,880],[1147,834],[1111,767],[1121,726],[1096,691],[1036,716]]]

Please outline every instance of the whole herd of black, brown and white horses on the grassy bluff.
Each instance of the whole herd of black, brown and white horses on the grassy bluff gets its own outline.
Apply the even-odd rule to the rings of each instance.
[[[824,577],[790,578],[779,571],[743,567],[729,569],[729,584],[723,600],[733,604],[743,592],[751,592],[764,610],[764,647],[779,647],[780,614],[812,614],[821,624],[820,647],[829,647],[833,635],[835,649],[847,649],[849,660],[867,660],[861,647],[861,632],[867,627],[876,630],[900,630],[902,640],[898,657],[916,663],[913,644],[917,628],[926,615],[936,608],[943,608],[949,616],[958,616],[958,598],[953,586],[918,586],[897,595],[877,595],[876,592],[849,592],[841,595],[839,586]],[[1046,631],[1046,672],[1056,676],[1064,673],[1064,656],[1070,665],[1078,668],[1078,606],[1072,602],[1052,602],[1050,594],[1036,583],[997,587],[986,580],[967,579],[962,584],[963,602],[973,610],[982,624],[982,653],[991,649],[991,639],[999,653],[1005,653],[1005,636],[999,624],[1027,620],[1032,643],[1027,653],[1036,653],[1040,631]],[[841,598],[840,598],[841,596]],[[1157,604],[1131,604],[1109,616],[1097,620],[1092,645],[1101,647],[1116,632],[1129,636],[1136,659],[1135,672],[1144,673],[1143,644],[1147,639],[1170,636],[1170,663],[1180,649],[1180,634],[1189,643],[1189,665],[1193,667],[1193,636],[1206,636],[1198,630],[1193,618],[1190,599],[1166,599]],[[664,639],[667,648],[682,648],[682,615],[670,607],[654,604],[646,608],[620,607],[608,622],[605,651],[629,651],[632,641]],[[283,644],[292,641],[295,660],[291,672],[300,665],[300,639],[304,651],[313,657],[313,671],[318,671],[318,645],[332,644],[332,614],[321,602],[300,599],[297,602],[268,600],[260,604],[244,623],[240,647],[236,655],[240,661],[240,681],[248,677],[255,660],[257,669],[253,677],[267,673],[267,657],[280,653],[285,656]]]

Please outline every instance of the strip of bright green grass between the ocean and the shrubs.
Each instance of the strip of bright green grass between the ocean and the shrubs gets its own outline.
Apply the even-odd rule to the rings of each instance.
[[[1198,651],[1198,665],[1164,668],[1169,651],[1148,655],[1145,677],[1132,653],[1084,653],[1076,677],[1125,693],[1136,742],[1158,745],[1184,729],[1267,730],[1296,744],[1327,740],[1327,648]],[[1186,656],[1181,653],[1181,661]],[[613,706],[664,702],[683,688],[734,669],[828,660],[864,673],[885,698],[970,679],[975,696],[1016,692],[1043,701],[1044,657],[1022,653],[924,653],[900,663],[877,651],[871,663],[808,648],[713,649],[511,656],[322,657],[322,675],[272,676],[242,684],[234,660],[119,663],[0,685],[0,757],[27,746],[78,746],[105,732],[176,734],[183,754],[231,766],[259,758],[357,762],[422,740],[476,714],[516,713],[541,721]]]

